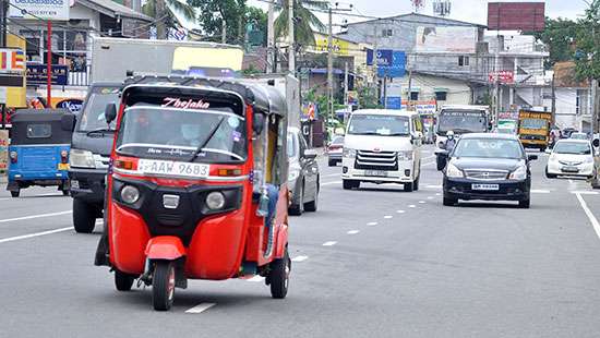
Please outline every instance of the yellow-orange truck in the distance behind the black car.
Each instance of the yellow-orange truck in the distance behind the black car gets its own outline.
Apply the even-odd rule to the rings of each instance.
[[[544,152],[550,142],[551,123],[550,111],[520,110],[518,133],[523,146]]]

